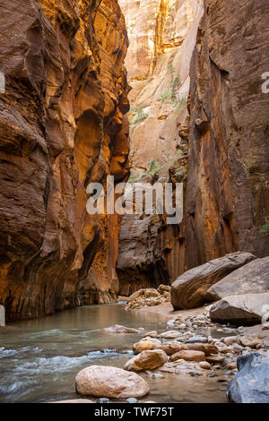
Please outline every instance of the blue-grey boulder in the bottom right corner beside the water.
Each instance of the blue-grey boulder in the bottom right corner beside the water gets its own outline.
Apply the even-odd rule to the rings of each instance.
[[[227,387],[235,403],[269,403],[269,357],[254,353],[238,358],[239,373]]]

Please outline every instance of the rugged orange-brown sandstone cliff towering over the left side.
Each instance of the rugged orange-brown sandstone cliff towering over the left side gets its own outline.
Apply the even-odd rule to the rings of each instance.
[[[117,0],[0,5],[0,303],[9,320],[117,294],[117,216],[86,186],[128,173],[124,17]]]

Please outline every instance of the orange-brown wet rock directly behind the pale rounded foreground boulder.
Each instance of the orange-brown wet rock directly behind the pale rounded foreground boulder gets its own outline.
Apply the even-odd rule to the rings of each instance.
[[[168,360],[168,356],[161,349],[143,351],[138,356],[126,362],[125,369],[128,371],[142,372],[161,367]]]

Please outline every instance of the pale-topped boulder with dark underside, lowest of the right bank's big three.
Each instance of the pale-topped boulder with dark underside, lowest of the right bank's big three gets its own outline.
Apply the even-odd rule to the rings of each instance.
[[[252,325],[261,322],[269,305],[269,292],[226,296],[210,309],[213,322],[230,322],[236,325]]]

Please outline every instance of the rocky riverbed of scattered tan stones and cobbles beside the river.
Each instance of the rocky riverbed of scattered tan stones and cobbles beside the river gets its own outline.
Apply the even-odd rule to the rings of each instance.
[[[126,311],[135,313],[138,308],[139,312],[161,312],[168,315],[169,302],[164,294],[169,294],[169,287],[161,286],[158,291],[153,288],[137,291],[129,298]],[[156,301],[159,301],[159,305],[155,304]],[[231,401],[253,401],[251,379],[244,379],[244,373],[241,380],[243,385],[240,385],[240,389],[237,387],[241,367],[249,365],[250,374],[254,372],[254,377],[260,384],[259,396],[262,398],[256,392],[255,399],[267,401],[268,386],[263,379],[257,379],[261,374],[258,369],[256,374],[252,367],[256,361],[264,365],[265,372],[265,367],[269,367],[267,326],[246,328],[229,323],[221,325],[211,321],[210,310],[211,306],[207,306],[199,311],[177,312],[172,318],[168,316],[166,329],[162,331],[143,331],[138,326],[136,331],[122,325],[109,327],[105,331],[110,334],[140,335],[141,338],[133,344],[134,357],[130,357],[122,369],[110,366],[104,372],[102,366],[95,365],[82,370],[75,379],[76,390],[91,399],[95,397],[96,400],[99,397],[103,402],[125,398],[126,402],[132,403],[151,393],[142,375],[145,374],[146,378],[157,382],[164,378],[169,380],[170,376],[173,376],[174,381],[175,376],[178,376],[179,387],[181,379],[186,377],[192,379],[193,384],[197,380],[213,379],[216,386],[224,387],[223,396],[228,386],[227,397]],[[252,362],[253,358],[255,363]],[[111,378],[112,385],[108,382]]]

